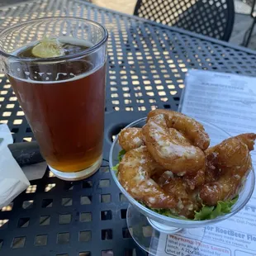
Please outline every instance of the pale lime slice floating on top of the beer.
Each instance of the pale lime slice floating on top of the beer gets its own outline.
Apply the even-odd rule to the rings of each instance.
[[[65,55],[62,44],[56,38],[44,38],[32,48],[31,53],[39,58],[54,58]]]

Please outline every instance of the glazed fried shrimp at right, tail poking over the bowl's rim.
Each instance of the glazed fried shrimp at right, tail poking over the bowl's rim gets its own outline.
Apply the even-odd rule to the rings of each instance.
[[[206,150],[207,156],[211,157],[211,166],[219,172],[219,178],[201,187],[202,203],[216,206],[218,201],[230,200],[238,194],[252,168],[249,150],[254,149],[255,139],[256,134],[238,135]]]

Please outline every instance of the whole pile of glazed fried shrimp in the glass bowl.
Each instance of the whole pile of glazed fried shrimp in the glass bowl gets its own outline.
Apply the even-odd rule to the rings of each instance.
[[[145,126],[118,135],[126,154],[117,178],[135,200],[168,210],[161,214],[205,220],[216,209],[208,206],[230,204],[239,194],[252,169],[254,140],[256,134],[248,133],[208,148],[209,135],[198,121],[176,111],[150,111]]]

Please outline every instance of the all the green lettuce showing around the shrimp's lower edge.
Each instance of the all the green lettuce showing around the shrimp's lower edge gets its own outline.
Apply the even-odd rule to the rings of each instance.
[[[122,149],[118,154],[118,161],[121,162],[122,157],[126,154],[126,150]],[[118,171],[119,163],[112,167],[113,171]],[[216,206],[205,206],[202,204],[200,211],[195,211],[195,217],[193,220],[212,220],[218,216],[223,216],[227,213],[231,212],[232,206],[235,205],[236,201],[238,200],[239,196],[236,196],[232,200],[229,201],[218,201]],[[168,216],[171,218],[176,218],[180,220],[191,220],[184,216],[177,216],[173,214],[170,209],[154,209],[146,206],[143,202],[140,201],[140,204],[147,207],[151,211],[155,211],[161,215]]]

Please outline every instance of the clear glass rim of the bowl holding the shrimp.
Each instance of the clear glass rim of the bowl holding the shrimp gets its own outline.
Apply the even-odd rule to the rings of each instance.
[[[136,121],[131,122],[128,126],[126,126],[125,128],[128,127],[135,127],[136,124],[140,123],[141,121],[146,121],[147,117],[142,117]],[[211,126],[213,128],[215,128],[216,130],[220,130],[222,133],[225,133],[225,135],[231,136],[229,133],[227,133],[225,130],[219,128],[218,126],[215,126],[213,124],[211,124],[210,122],[207,121],[201,121],[200,119],[197,119],[197,121],[199,121],[201,124],[206,124],[207,126]],[[124,129],[125,129],[124,128]],[[118,134],[119,135],[119,134]],[[115,148],[115,145],[118,144],[118,135],[116,135],[115,140],[113,140],[113,143],[111,145],[111,149],[110,149],[110,153],[109,153],[109,166],[110,166],[110,172],[112,175],[112,178],[114,179],[117,187],[121,190],[121,192],[125,195],[125,197],[128,199],[129,203],[131,203],[133,206],[136,206],[137,208],[140,209],[140,211],[146,213],[148,216],[153,216],[154,220],[159,220],[159,222],[173,222],[173,224],[175,225],[209,225],[209,224],[213,224],[222,220],[226,220],[228,218],[230,218],[231,216],[234,216],[236,213],[238,213],[241,209],[244,208],[244,206],[247,204],[247,202],[249,201],[249,199],[251,198],[253,192],[254,192],[254,185],[255,185],[255,173],[254,173],[254,166],[252,165],[251,170],[249,171],[249,174],[251,174],[251,188],[249,191],[249,195],[248,197],[246,197],[246,199],[241,203],[241,205],[239,207],[237,207],[237,209],[235,209],[235,211],[230,212],[228,214],[225,214],[223,216],[218,216],[215,219],[211,219],[211,220],[182,220],[182,219],[178,219],[178,218],[173,218],[173,217],[168,217],[168,216],[164,216],[161,215],[155,211],[150,210],[149,208],[147,208],[146,206],[143,206],[142,204],[140,204],[139,201],[136,201],[133,197],[130,196],[130,194],[128,192],[126,192],[126,189],[124,187],[121,186],[121,183],[119,183],[118,178],[116,177],[116,172],[114,170],[112,170],[113,168],[113,162],[112,162],[112,154],[113,154],[113,150]],[[235,203],[236,204],[236,203]]]

